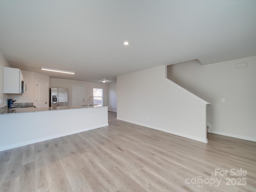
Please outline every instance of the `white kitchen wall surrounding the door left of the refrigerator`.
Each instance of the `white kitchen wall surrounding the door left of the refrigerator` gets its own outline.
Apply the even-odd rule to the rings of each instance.
[[[16,100],[17,103],[26,103],[26,102],[33,102],[35,104],[35,89],[36,89],[36,80],[48,82],[50,77],[48,75],[43,75],[35,72],[29,71],[22,71],[24,80],[28,86],[28,90],[24,94],[13,94],[12,98]],[[49,89],[47,94],[47,99],[49,101]]]

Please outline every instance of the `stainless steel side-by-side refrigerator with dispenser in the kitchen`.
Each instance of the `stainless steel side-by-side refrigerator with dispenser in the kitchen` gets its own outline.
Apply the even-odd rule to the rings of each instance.
[[[68,89],[50,88],[50,107],[68,106]]]

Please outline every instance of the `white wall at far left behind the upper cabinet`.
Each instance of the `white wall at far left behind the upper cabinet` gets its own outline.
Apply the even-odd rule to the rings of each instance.
[[[0,52],[0,107],[7,105],[7,100],[12,98],[11,94],[4,94],[4,67],[11,67]]]

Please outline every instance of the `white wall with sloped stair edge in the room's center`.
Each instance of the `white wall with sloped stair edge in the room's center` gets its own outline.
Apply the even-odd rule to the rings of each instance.
[[[166,79],[166,66],[117,77],[117,119],[207,142],[206,104]]]

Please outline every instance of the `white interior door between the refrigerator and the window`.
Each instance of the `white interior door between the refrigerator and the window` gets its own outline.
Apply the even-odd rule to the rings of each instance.
[[[84,105],[85,87],[81,85],[72,85],[72,106]]]

